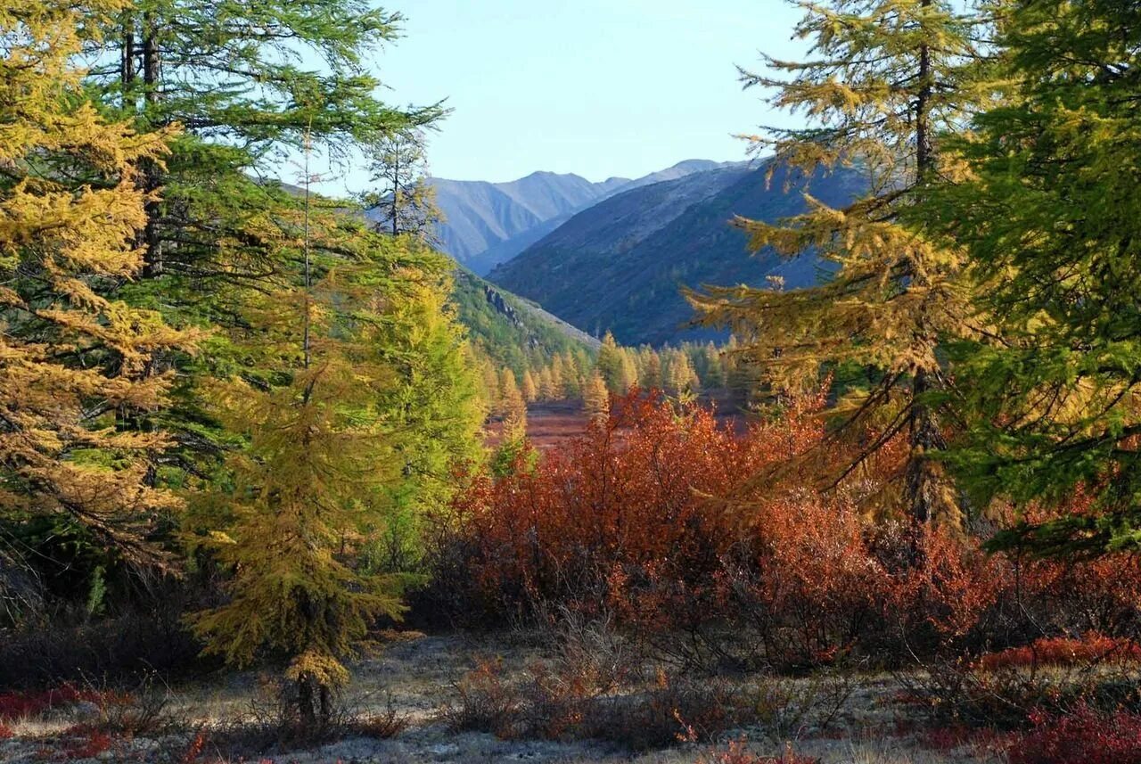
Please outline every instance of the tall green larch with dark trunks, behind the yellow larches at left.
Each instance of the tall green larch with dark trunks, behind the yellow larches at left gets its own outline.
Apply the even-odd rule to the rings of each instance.
[[[164,194],[147,205],[133,303],[176,325],[240,326],[243,301],[292,273],[286,221],[304,195],[276,180],[281,169],[306,152],[359,161],[362,145],[440,116],[377,97],[369,66],[399,23],[364,0],[148,0],[99,25],[86,84],[104,109],[140,128],[184,127],[165,164],[145,168],[145,187]],[[225,375],[237,352],[211,343],[187,371]],[[194,422],[186,407],[180,421]]]

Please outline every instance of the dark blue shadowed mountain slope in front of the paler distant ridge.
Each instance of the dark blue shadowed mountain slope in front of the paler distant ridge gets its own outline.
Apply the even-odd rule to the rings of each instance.
[[[733,218],[775,221],[803,212],[809,187],[837,206],[864,188],[855,170],[791,179],[778,171],[771,180],[766,172],[766,165],[723,168],[624,190],[572,216],[488,279],[594,335],[612,331],[623,344],[722,338],[688,326],[681,285],[763,286],[782,276],[798,288],[820,275],[811,254],[750,255]]]

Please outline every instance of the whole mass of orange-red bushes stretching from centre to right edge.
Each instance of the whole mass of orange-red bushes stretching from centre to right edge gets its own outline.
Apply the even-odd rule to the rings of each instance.
[[[665,657],[696,663],[981,655],[1044,633],[1136,627],[1132,558],[1020,562],[974,536],[866,517],[900,444],[822,490],[808,457],[850,456],[820,447],[824,403],[793,401],[741,432],[634,391],[583,437],[477,477],[456,499],[452,568],[437,579],[493,623],[613,615]],[[1082,511],[1079,498],[1067,511]]]

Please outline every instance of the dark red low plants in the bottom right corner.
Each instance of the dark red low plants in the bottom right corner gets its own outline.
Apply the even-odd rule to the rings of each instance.
[[[1010,764],[1141,764],[1141,715],[1079,707],[1063,716],[1035,713],[1034,729],[1009,745]]]

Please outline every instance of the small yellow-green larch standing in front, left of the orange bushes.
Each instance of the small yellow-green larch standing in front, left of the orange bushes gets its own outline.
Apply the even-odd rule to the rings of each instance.
[[[337,209],[307,204],[290,222],[294,271],[248,300],[252,331],[235,331],[262,358],[209,385],[215,415],[246,445],[196,496],[189,542],[229,578],[227,601],[192,623],[230,665],[282,664],[298,723],[314,731],[348,680],[343,659],[403,609],[400,579],[363,558],[404,468],[380,403],[402,384],[385,331],[408,263]],[[258,376],[266,367],[273,384]]]

